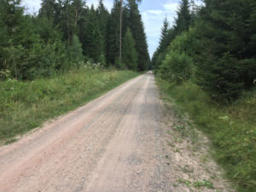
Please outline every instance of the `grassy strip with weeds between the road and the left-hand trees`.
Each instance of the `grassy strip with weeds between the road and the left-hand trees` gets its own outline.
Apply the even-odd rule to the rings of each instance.
[[[32,82],[0,82],[0,140],[15,141],[44,121],[73,110],[139,73],[80,69]]]

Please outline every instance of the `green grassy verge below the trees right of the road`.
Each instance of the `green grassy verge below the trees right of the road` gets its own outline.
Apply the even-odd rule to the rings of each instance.
[[[244,93],[229,105],[221,106],[191,82],[169,84],[157,79],[160,91],[172,97],[204,131],[216,149],[214,157],[224,167],[237,191],[256,189],[256,90]]]

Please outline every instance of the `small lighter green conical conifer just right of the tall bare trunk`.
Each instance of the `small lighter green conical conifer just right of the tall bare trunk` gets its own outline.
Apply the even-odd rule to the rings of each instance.
[[[131,30],[128,27],[123,44],[123,62],[131,70],[137,70],[137,51],[135,49],[135,40],[132,37]]]

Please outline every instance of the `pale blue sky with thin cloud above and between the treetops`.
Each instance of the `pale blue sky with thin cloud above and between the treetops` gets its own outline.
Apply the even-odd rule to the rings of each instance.
[[[139,5],[145,32],[148,40],[148,52],[152,56],[155,49],[157,49],[160,41],[160,31],[163,22],[167,17],[170,25],[172,26],[180,0],[143,0]],[[200,0],[195,0],[200,2]],[[23,0],[22,4],[26,6],[28,13],[38,12],[40,9],[41,0]],[[97,5],[98,0],[87,0],[87,5]],[[113,0],[103,0],[103,3],[110,11],[113,6]]]

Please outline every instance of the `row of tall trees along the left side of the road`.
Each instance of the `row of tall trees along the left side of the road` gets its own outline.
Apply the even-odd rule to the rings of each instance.
[[[111,13],[102,0],[42,0],[26,15],[20,0],[0,0],[0,79],[29,80],[78,68],[84,62],[144,71],[150,63],[138,0],[123,5],[123,60],[119,61],[120,1]]]

